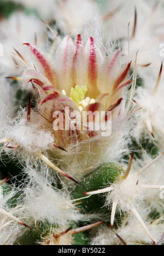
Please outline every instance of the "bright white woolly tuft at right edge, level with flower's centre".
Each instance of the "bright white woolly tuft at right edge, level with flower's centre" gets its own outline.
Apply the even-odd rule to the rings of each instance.
[[[157,75],[157,74],[156,74]],[[131,133],[132,137],[137,142],[142,139],[149,139],[157,147],[164,149],[164,107],[163,107],[163,88],[162,81],[157,89],[156,93],[153,94],[155,83],[147,82],[144,83],[144,87],[138,87],[134,100],[138,103],[138,108],[142,108],[134,113]],[[149,124],[149,125],[148,125]],[[151,129],[150,129],[151,125]],[[154,134],[155,138],[150,133]]]

